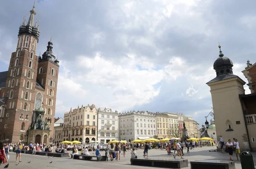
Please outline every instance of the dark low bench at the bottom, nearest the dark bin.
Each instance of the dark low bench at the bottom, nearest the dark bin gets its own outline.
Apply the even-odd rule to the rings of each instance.
[[[190,161],[191,169],[236,169],[234,161],[195,160]]]

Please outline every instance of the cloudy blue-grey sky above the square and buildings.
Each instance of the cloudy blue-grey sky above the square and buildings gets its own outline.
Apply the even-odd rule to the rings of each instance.
[[[1,0],[0,72],[8,70],[34,0]],[[95,104],[118,112],[183,112],[200,125],[212,108],[218,43],[241,73],[256,62],[256,1],[36,0],[41,35],[60,60],[55,117]],[[244,89],[249,94],[248,86]],[[208,121],[210,117],[208,117]]]

